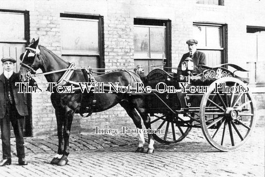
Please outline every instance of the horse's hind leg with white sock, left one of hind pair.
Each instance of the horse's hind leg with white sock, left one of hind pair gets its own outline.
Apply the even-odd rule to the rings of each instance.
[[[120,105],[126,110],[127,114],[133,119],[133,122],[137,129],[139,129],[138,137],[139,137],[139,145],[135,152],[144,152],[144,144],[145,144],[145,138],[144,133],[142,131],[142,125],[141,125],[141,117],[137,114],[135,108],[133,105],[129,102],[122,101],[120,102]]]

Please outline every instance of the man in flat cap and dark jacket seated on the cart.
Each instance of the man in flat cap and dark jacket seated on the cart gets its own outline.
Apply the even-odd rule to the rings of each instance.
[[[185,61],[185,59],[187,57],[192,59],[193,65],[194,65],[194,69],[192,71],[192,73],[201,73],[202,72],[202,68],[199,67],[198,65],[206,65],[206,57],[205,54],[203,52],[197,51],[197,43],[198,41],[196,41],[195,39],[189,39],[187,40],[186,44],[188,45],[188,53],[185,53],[177,68],[181,68],[181,63],[183,61]],[[181,71],[181,69],[177,70],[177,76],[182,75],[183,71]]]

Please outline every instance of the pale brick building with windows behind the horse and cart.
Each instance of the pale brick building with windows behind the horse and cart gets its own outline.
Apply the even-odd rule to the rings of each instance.
[[[1,0],[0,57],[18,60],[32,38],[77,66],[131,69],[143,65],[177,67],[185,41],[195,38],[198,50],[214,66],[233,63],[250,70],[259,123],[265,99],[264,0]],[[0,69],[2,72],[2,69]],[[44,77],[36,79],[46,88]],[[31,95],[29,135],[56,133],[50,93]],[[30,125],[30,126],[28,126]],[[134,127],[120,107],[75,115],[72,131]]]

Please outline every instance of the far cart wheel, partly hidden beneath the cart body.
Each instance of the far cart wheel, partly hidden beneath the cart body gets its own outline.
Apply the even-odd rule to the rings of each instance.
[[[184,139],[191,130],[193,121],[187,116],[177,115],[155,115],[156,119],[151,121],[152,129],[160,129],[162,132],[154,134],[154,139],[164,144],[174,144]]]

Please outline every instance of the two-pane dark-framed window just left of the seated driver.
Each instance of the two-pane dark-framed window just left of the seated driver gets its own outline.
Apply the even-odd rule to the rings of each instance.
[[[134,19],[134,64],[148,74],[154,66],[170,67],[171,21]]]

